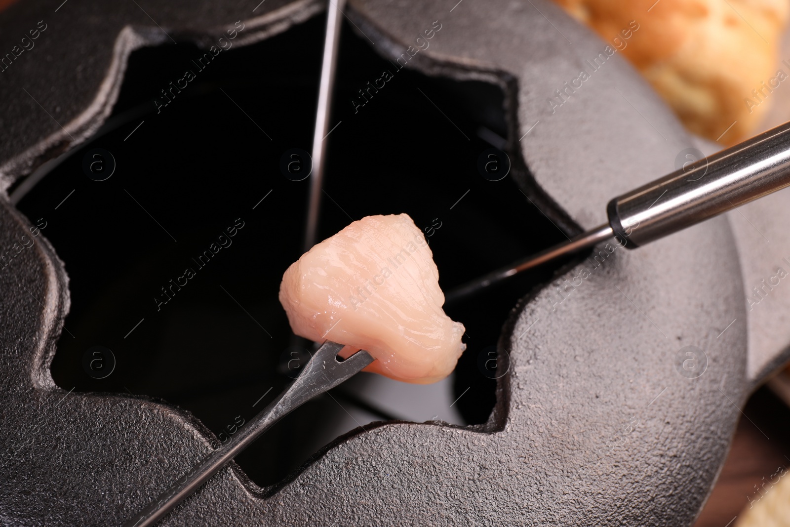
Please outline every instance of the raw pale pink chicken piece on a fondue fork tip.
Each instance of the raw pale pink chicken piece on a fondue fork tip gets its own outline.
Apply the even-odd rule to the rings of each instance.
[[[427,384],[450,375],[466,348],[438,277],[408,214],[367,216],[288,267],[280,303],[297,335],[365,349],[378,359],[366,371]]]

